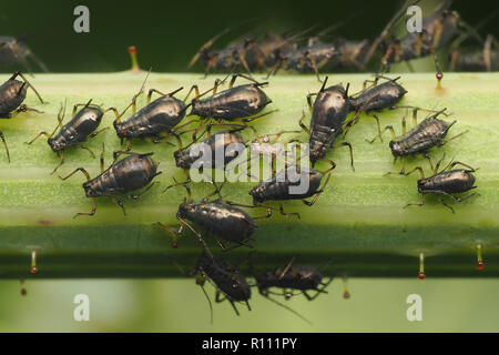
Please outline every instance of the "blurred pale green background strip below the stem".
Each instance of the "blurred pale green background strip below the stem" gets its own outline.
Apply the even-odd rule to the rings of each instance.
[[[0,282],[1,332],[498,332],[499,280],[419,281],[349,280],[352,297],[343,298],[335,280],[313,302],[296,296],[285,304],[313,322],[308,325],[253,290],[248,312],[241,316],[228,303],[207,302],[193,280],[58,280]],[[213,297],[213,287],[206,286]],[[90,321],[73,320],[73,298],[90,297]],[[406,298],[422,298],[422,321],[409,322]]]

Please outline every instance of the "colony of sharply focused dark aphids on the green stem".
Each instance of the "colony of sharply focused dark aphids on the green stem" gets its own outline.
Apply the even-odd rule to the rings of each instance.
[[[17,80],[18,77],[23,79],[23,81]],[[249,83],[235,85],[238,77],[247,79]],[[251,287],[256,286],[262,296],[302,317],[295,311],[272,297],[272,295],[283,295],[285,300],[288,300],[293,295],[303,294],[307,300],[314,300],[320,293],[326,293],[325,288],[333,278],[323,276],[320,274],[322,268],[314,268],[306,265],[295,266],[294,260],[292,260],[283,268],[276,267],[275,270],[255,271],[251,266],[252,276],[255,280],[255,283],[251,284],[237,266],[222,257],[214,256],[204,234],[211,234],[222,251],[235,247],[253,247],[254,234],[258,229],[256,221],[272,216],[274,210],[273,202],[277,203],[278,210],[283,215],[299,219],[298,213],[285,212],[283,202],[287,200],[299,200],[307,206],[314,205],[318,196],[326,189],[330,180],[332,171],[336,166],[335,162],[327,159],[328,153],[336,148],[347,146],[349,149],[350,164],[354,168],[354,148],[350,143],[338,142],[338,140],[344,138],[347,131],[353,129],[355,123],[359,122],[359,115],[361,113],[374,118],[378,124],[378,134],[369,143],[373,143],[378,138],[383,141],[383,134],[386,131],[390,131],[393,139],[388,143],[388,148],[395,161],[405,160],[407,156],[421,155],[430,163],[432,170],[432,175],[430,176],[425,176],[421,166],[416,166],[406,172],[405,163],[403,163],[400,171],[387,172],[386,175],[410,175],[416,171],[420,173],[420,179],[417,181],[417,191],[421,193],[422,200],[419,203],[409,203],[405,207],[411,205],[421,206],[425,203],[425,196],[427,194],[434,194],[454,213],[454,207],[444,197],[449,197],[454,202],[461,202],[476,195],[476,193],[466,196],[455,195],[476,187],[473,175],[476,169],[459,161],[451,161],[444,169],[440,169],[444,158],[434,166],[429,156],[431,150],[442,146],[465,133],[460,132],[451,138],[447,138],[448,131],[457,121],[448,122],[441,119],[441,116],[448,115],[446,109],[435,111],[400,105],[399,102],[408,91],[398,81],[399,78],[390,79],[377,75],[371,81],[366,80],[363,90],[356,94],[349,94],[349,84],[346,87],[343,87],[343,84],[327,85],[328,78],[326,77],[317,92],[306,95],[306,102],[310,111],[310,122],[308,126],[304,123],[306,116],[304,113],[297,124],[297,129],[301,128],[301,130],[308,134],[306,143],[308,143],[307,153],[312,165],[314,166],[318,162],[325,162],[330,166],[329,169],[319,171],[315,168],[302,166],[297,161],[286,161],[283,170],[273,171],[269,179],[259,181],[258,184],[248,191],[248,194],[253,199],[253,204],[241,204],[224,200],[221,192],[227,181],[224,181],[221,185],[212,182],[215,190],[204,199],[196,201],[191,194],[190,185],[192,182],[189,175],[189,171],[198,158],[198,155],[192,153],[196,143],[205,143],[212,149],[213,153],[217,139],[223,138],[225,145],[223,146],[224,155],[222,162],[216,161],[215,155],[208,155],[208,160],[213,163],[211,165],[212,169],[223,169],[232,160],[237,158],[237,155],[227,154],[227,145],[230,143],[240,143],[246,146],[245,144],[248,143],[242,135],[246,129],[251,129],[254,132],[255,139],[253,142],[263,144],[268,142],[274,143],[283,134],[301,132],[299,130],[282,131],[261,136],[256,129],[251,125],[251,122],[274,112],[264,112],[264,109],[272,103],[272,100],[264,91],[264,88],[268,83],[257,82],[246,75],[234,74],[227,89],[220,91],[218,89],[225,83],[227,78],[228,75],[224,80],[216,80],[214,87],[203,93],[200,93],[197,85],[193,85],[183,100],[175,97],[183,88],[179,88],[170,93],[151,89],[146,98],[146,105],[138,110],[136,99],[144,91],[144,81],[140,91],[133,95],[131,103],[121,113],[116,108],[104,109],[102,105],[92,103],[93,100],[89,99],[86,103],[74,104],[71,119],[65,124],[63,124],[67,106],[67,102],[64,102],[59,110],[57,116],[58,124],[53,132],[49,134],[42,131],[29,144],[32,144],[42,135],[48,138],[50,149],[61,156],[61,162],[52,171],[53,173],[64,162],[64,150],[71,146],[85,149],[94,156],[93,151],[85,145],[85,142],[106,129],[100,128],[103,116],[106,112],[113,112],[115,115],[113,128],[118,139],[122,143],[126,140],[125,149],[114,151],[114,161],[105,169],[104,145],[102,144],[102,152],[100,154],[101,173],[93,179],[91,179],[84,168],[78,168],[64,178],[60,178],[67,180],[77,172],[81,172],[86,179],[82,187],[85,196],[93,199],[93,205],[91,212],[80,212],[74,217],[80,215],[94,215],[98,199],[102,196],[111,197],[122,209],[123,214],[126,215],[122,200],[123,195],[128,194],[131,199],[140,199],[140,196],[157,183],[154,181],[154,178],[161,174],[161,171],[159,171],[159,162],[153,160],[153,152],[132,152],[133,140],[141,139],[160,143],[173,136],[179,144],[179,150],[173,154],[175,164],[177,168],[186,171],[187,179],[184,182],[175,181],[164,192],[167,192],[171,187],[181,186],[186,190],[187,196],[179,205],[176,213],[176,219],[180,222],[179,230],[175,231],[161,222],[157,222],[157,225],[173,236],[174,247],[179,247],[177,239],[184,229],[189,229],[197,237],[202,245],[202,254],[193,270],[193,273],[198,275],[196,278],[197,284],[204,285],[205,281],[208,280],[216,288],[215,301],[221,302],[227,300],[237,314],[236,303],[242,302],[249,310]],[[381,80],[383,82],[380,82]],[[369,82],[371,85],[367,87]],[[6,83],[0,85],[0,113],[2,116],[11,118],[24,111],[40,112],[22,103],[29,88],[33,90],[43,103],[40,94],[20,72],[14,73]],[[195,97],[189,102],[187,99],[192,92],[195,93]],[[160,98],[151,101],[153,93],[160,94]],[[211,95],[207,95],[210,93]],[[132,108],[132,115],[123,119],[130,108]],[[191,111],[187,113],[189,109]],[[401,136],[397,136],[391,125],[387,125],[381,130],[378,115],[373,113],[399,109],[410,109],[413,111],[414,128],[407,132],[406,118],[404,116]],[[428,112],[428,116],[420,123],[417,123],[418,111]],[[353,113],[353,115],[347,120],[349,113]],[[197,116],[198,119],[187,120],[186,116]],[[194,128],[190,128],[192,125]],[[224,130],[212,134],[212,128],[217,125],[224,128]],[[198,134],[201,131],[203,132]],[[192,141],[187,146],[183,146],[182,136],[186,133],[192,133]],[[207,138],[201,141],[204,134],[207,134]],[[272,135],[275,135],[273,141],[269,140]],[[3,140],[9,158],[3,134],[0,134],[0,136]],[[295,138],[288,142],[299,142],[299,139]],[[121,155],[125,156],[119,159]],[[462,168],[456,169],[457,165]],[[297,187],[303,181],[307,182],[307,189],[293,193],[293,189]],[[215,195],[218,197],[213,200],[212,197]],[[312,200],[306,200],[309,197]],[[245,209],[262,209],[265,213],[258,216],[252,216]],[[198,229],[204,230],[206,233],[202,233]],[[421,274],[424,275],[422,272]],[[274,288],[281,288],[282,293],[276,293]],[[310,295],[309,292],[314,292],[314,294]],[[348,294],[348,292],[346,291],[345,294]]]

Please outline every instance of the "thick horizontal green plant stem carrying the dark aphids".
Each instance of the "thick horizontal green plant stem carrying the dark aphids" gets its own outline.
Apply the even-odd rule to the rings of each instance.
[[[394,74],[395,77],[395,74]],[[6,80],[8,75],[2,75]],[[32,84],[49,103],[41,105],[32,92],[26,103],[43,110],[39,114],[28,112],[11,120],[0,120],[0,130],[6,134],[11,153],[11,163],[0,151],[0,275],[1,277],[105,277],[105,276],[182,276],[175,263],[185,271],[195,263],[200,247],[195,237],[184,232],[180,247],[171,247],[172,239],[154,225],[163,222],[176,226],[175,213],[185,191],[173,189],[162,193],[172,183],[172,176],[185,179],[175,168],[173,151],[169,144],[152,144],[133,141],[133,151],[154,152],[163,174],[161,182],[139,201],[126,200],[128,216],[106,199],[100,199],[96,214],[80,216],[77,212],[90,212],[92,201],[84,197],[81,183],[83,176],[75,175],[62,182],[50,172],[60,159],[47,140],[26,144],[38,132],[51,132],[57,123],[61,102],[68,108],[93,99],[105,108],[116,106],[122,111],[136,93],[145,73],[113,74],[37,74]],[[170,92],[183,85],[177,94],[184,98],[194,83],[201,91],[213,85],[215,77],[201,79],[198,74],[152,73],[146,83],[150,88]],[[366,74],[329,75],[329,83],[350,82],[352,92],[359,91]],[[243,82],[244,80],[241,80]],[[355,172],[349,166],[346,149],[329,151],[328,158],[337,163],[332,180],[318,202],[305,206],[299,201],[285,203],[287,212],[299,212],[301,220],[274,213],[272,219],[258,221],[255,233],[254,258],[258,267],[285,264],[293,255],[299,263],[319,265],[334,257],[330,272],[353,276],[415,276],[418,256],[426,256],[428,276],[497,276],[499,275],[499,74],[447,74],[444,89],[436,90],[431,73],[404,74],[401,83],[408,93],[400,104],[429,109],[448,108],[457,120],[449,132],[452,136],[468,130],[466,134],[444,148],[431,151],[438,160],[445,152],[447,159],[466,162],[477,171],[476,190],[480,196],[464,203],[452,203],[456,214],[441,205],[438,199],[428,197],[422,207],[403,209],[407,203],[420,201],[416,181],[418,176],[390,175],[399,170],[393,164],[388,148],[389,134],[383,143],[373,144],[365,139],[376,135],[373,119],[363,115],[360,122],[346,135],[354,148]],[[272,78],[265,89],[273,100],[275,112],[254,126],[261,134],[298,129],[302,111],[307,111],[306,94],[320,88],[313,75],[283,75]],[[145,102],[142,97],[139,108]],[[401,134],[400,120],[405,110],[380,113],[381,126],[393,124]],[[65,120],[69,120],[70,110]],[[407,113],[408,129],[411,112]],[[425,118],[419,113],[419,121]],[[125,115],[125,118],[129,115]],[[102,126],[110,129],[86,145],[98,155],[105,142],[106,165],[112,161],[112,151],[120,142],[112,129],[113,115],[103,119]],[[309,122],[309,115],[305,120]],[[251,138],[249,132],[246,133]],[[306,134],[295,134],[306,141]],[[286,136],[283,140],[287,140]],[[171,140],[174,142],[173,140]],[[425,159],[408,160],[406,169],[421,165],[429,173]],[[84,166],[92,176],[99,173],[99,159],[89,152],[70,149],[61,175],[77,166]],[[319,165],[326,168],[326,164]],[[231,201],[251,204],[247,194],[255,183],[227,184],[223,195]],[[193,187],[195,199],[202,199],[213,186],[198,183]],[[259,215],[261,210],[248,210]],[[218,253],[216,243],[207,236],[212,251]],[[483,247],[486,268],[477,271],[476,245]],[[30,275],[30,255],[37,251],[39,272]],[[224,255],[244,264],[247,248]],[[173,263],[172,261],[175,261]]]

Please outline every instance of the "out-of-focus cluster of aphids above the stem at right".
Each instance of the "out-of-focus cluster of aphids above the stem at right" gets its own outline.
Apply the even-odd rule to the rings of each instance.
[[[266,72],[268,77],[279,70],[312,72],[320,81],[319,72],[376,71],[389,72],[391,64],[405,62],[410,68],[414,59],[431,57],[435,61],[436,77],[444,77],[436,53],[449,45],[450,71],[492,71],[498,68],[498,42],[489,34],[487,40],[469,26],[458,12],[450,10],[452,1],[441,1],[432,12],[425,13],[421,31],[396,36],[408,7],[418,0],[407,0],[394,14],[383,31],[374,39],[350,40],[332,32],[342,26],[336,24],[310,36],[310,30],[284,33],[267,32],[246,36],[233,41],[226,48],[214,49],[221,37],[232,29],[225,29],[204,43],[191,60],[189,68],[201,61],[205,73],[245,71]],[[464,50],[462,42],[471,39],[476,48]],[[378,55],[377,55],[378,54]]]

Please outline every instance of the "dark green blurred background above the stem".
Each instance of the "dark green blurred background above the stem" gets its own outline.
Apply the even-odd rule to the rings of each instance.
[[[430,13],[438,2],[422,0],[424,16]],[[343,24],[333,36],[371,39],[403,3],[397,0],[3,1],[0,34],[29,36],[28,44],[53,72],[126,70],[130,67],[126,48],[132,44],[138,48],[143,68],[153,67],[160,72],[185,71],[197,49],[227,27],[241,24],[214,48],[223,48],[248,33],[258,34],[265,30],[317,27],[317,32],[338,23]],[[73,10],[80,4],[90,9],[90,33],[73,31]],[[497,9],[497,2],[480,1],[477,4],[456,0],[452,9],[470,24],[477,24]],[[248,22],[242,23],[244,21]],[[489,20],[481,32],[499,37],[497,19]]]

